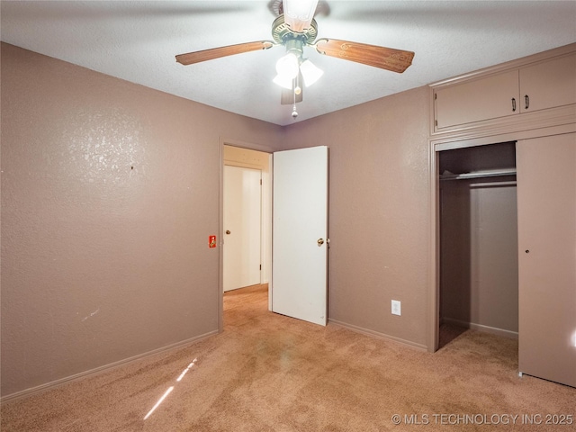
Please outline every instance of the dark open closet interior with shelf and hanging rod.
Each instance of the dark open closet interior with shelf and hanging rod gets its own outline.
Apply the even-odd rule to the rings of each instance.
[[[518,338],[516,142],[438,152],[439,344]]]

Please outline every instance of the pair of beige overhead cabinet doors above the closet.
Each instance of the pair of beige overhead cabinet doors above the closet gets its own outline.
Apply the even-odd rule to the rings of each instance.
[[[576,53],[434,88],[434,130],[576,104]]]

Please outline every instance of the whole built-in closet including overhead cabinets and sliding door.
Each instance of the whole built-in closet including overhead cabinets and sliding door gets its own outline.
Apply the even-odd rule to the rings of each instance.
[[[576,43],[430,85],[430,145],[430,346],[518,338],[520,376],[576,387]]]

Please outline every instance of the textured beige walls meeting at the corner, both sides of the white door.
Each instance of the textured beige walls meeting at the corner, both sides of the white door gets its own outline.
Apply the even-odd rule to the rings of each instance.
[[[329,146],[329,318],[426,345],[428,87],[283,129],[3,44],[3,396],[218,329],[227,140]]]

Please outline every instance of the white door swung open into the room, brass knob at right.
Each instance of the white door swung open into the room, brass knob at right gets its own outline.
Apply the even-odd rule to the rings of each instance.
[[[328,320],[328,147],[274,153],[272,311]]]

